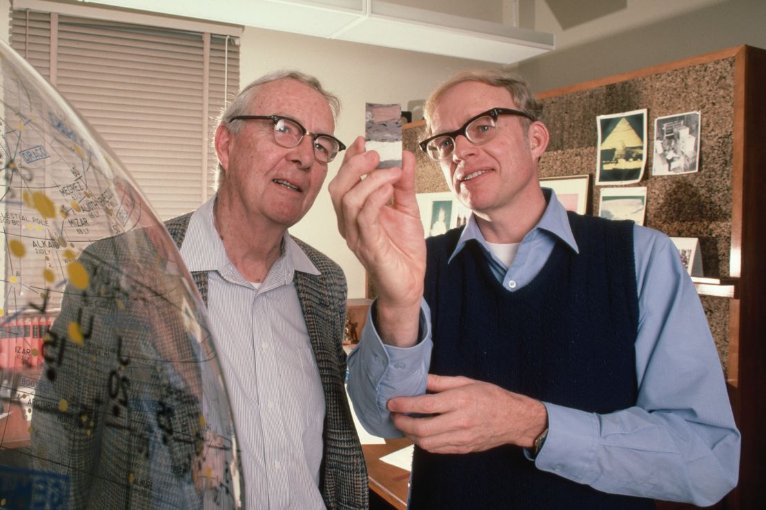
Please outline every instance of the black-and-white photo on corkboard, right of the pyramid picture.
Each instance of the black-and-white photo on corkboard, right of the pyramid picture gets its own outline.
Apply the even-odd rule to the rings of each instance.
[[[652,175],[692,174],[699,170],[699,112],[654,121]]]

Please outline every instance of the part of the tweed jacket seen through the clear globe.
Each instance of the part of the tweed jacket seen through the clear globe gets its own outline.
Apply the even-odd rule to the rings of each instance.
[[[78,258],[82,274],[64,291],[35,388],[41,508],[234,506],[213,497],[220,487],[195,484],[203,381],[185,317],[202,317],[179,261],[159,224]]]

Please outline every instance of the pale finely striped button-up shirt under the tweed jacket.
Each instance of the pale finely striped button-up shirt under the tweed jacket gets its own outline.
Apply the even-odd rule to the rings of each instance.
[[[325,398],[293,284],[295,271],[319,271],[285,233],[282,255],[256,289],[229,261],[213,203],[192,214],[180,252],[189,271],[208,271],[208,322],[237,427],[246,508],[325,508]]]

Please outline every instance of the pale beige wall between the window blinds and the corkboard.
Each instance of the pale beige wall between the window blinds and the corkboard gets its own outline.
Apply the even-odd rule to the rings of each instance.
[[[336,136],[346,145],[364,135],[365,102],[398,103],[406,109],[408,102],[424,99],[441,80],[470,65],[487,64],[259,28],[246,28],[241,39],[241,86],[281,67],[317,76],[342,100]],[[339,160],[330,164],[312,210],[290,232],[341,265],[349,281],[349,297],[365,297],[364,268],[338,233],[326,191]]]

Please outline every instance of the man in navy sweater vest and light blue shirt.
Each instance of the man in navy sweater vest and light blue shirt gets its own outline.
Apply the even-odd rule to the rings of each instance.
[[[408,153],[375,172],[357,140],[330,184],[379,294],[349,391],[368,430],[416,443],[411,507],[721,499],[740,437],[669,239],[541,189],[548,129],[518,77],[459,74],[425,110],[421,148],[473,211],[466,226],[424,242]]]

